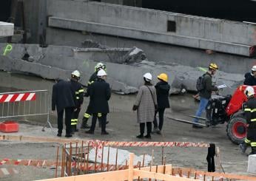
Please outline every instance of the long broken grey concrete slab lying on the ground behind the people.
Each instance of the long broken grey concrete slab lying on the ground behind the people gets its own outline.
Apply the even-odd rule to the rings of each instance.
[[[6,44],[0,44],[0,49],[5,46]],[[82,73],[81,83],[87,85],[98,61],[104,62],[107,66],[107,81],[112,90],[124,94],[138,92],[138,87],[144,83],[142,77],[145,72],[152,73],[153,83],[158,81],[157,75],[166,72],[169,75],[169,84],[172,85],[170,94],[196,91],[196,80],[206,71],[202,67],[156,64],[147,61],[144,52],[137,47],[132,49],[81,49],[65,46],[42,48],[35,44],[13,44],[13,50],[7,56],[1,57],[0,69],[27,72],[48,79],[67,79],[70,78],[70,72],[78,69]],[[243,83],[243,75],[218,71],[213,81],[216,85],[225,83],[228,86],[220,92],[221,95],[232,94]]]

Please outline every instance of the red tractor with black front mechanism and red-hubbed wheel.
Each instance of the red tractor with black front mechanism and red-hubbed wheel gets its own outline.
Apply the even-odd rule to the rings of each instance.
[[[232,96],[213,98],[206,107],[206,120],[209,124],[215,126],[226,122],[226,134],[235,144],[242,143],[246,138],[246,117],[242,110],[247,100],[243,93],[246,87],[239,86]],[[256,86],[253,87],[256,90]]]

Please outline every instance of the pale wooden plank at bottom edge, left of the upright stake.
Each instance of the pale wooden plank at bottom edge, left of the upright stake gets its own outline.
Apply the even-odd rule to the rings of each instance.
[[[40,180],[40,181],[102,181],[102,180],[127,180],[128,170],[124,171],[108,171],[98,174],[84,174],[73,177],[60,177],[54,179]]]

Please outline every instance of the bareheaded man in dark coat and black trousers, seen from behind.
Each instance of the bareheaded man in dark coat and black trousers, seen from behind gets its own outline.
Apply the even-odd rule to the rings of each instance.
[[[57,108],[58,113],[58,137],[61,137],[63,129],[63,113],[65,110],[65,137],[72,137],[71,135],[71,117],[75,108],[75,94],[73,92],[70,82],[58,80],[58,83],[53,85],[52,95],[52,111]]]

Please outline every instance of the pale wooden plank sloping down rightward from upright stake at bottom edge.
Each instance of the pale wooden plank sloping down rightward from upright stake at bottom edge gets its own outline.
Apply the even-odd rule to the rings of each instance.
[[[189,181],[193,179],[189,178],[184,178],[184,177],[175,177],[172,175],[168,174],[159,174],[159,173],[154,173],[150,171],[141,171],[141,170],[134,170],[133,171],[133,178],[136,179],[138,177],[141,178],[151,178],[155,180],[165,180],[165,181],[170,181],[170,180],[175,180],[175,181]]]

